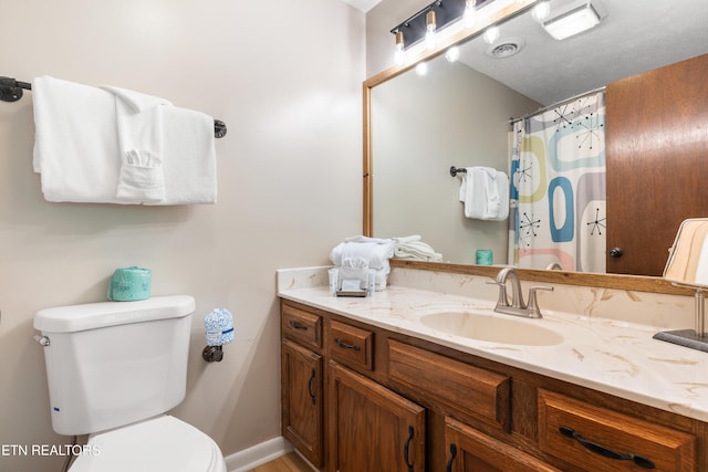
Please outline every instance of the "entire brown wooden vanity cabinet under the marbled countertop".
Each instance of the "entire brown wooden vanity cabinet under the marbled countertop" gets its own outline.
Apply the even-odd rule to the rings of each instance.
[[[294,302],[282,313],[283,436],[321,470],[708,472],[705,422]],[[293,340],[293,314],[321,347]]]

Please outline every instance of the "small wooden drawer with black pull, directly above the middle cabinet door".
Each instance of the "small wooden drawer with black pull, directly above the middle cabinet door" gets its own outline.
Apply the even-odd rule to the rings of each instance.
[[[330,324],[330,354],[332,358],[350,367],[374,369],[374,333],[344,323]]]

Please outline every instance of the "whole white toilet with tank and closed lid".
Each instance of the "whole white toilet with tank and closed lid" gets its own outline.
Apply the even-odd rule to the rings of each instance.
[[[185,398],[187,295],[38,312],[52,428],[88,434],[71,472],[226,472],[219,447],[167,412]]]

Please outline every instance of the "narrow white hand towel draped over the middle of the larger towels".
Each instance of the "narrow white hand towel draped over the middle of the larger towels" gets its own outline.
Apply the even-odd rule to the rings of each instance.
[[[125,88],[102,88],[115,95],[121,149],[116,198],[132,203],[165,200],[163,108],[171,103]]]

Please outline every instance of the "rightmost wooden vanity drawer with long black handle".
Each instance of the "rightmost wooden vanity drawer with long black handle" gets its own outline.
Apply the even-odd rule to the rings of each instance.
[[[543,389],[539,447],[586,471],[697,470],[694,436]]]

